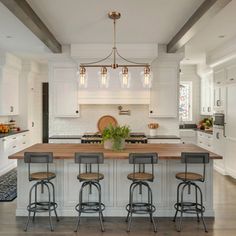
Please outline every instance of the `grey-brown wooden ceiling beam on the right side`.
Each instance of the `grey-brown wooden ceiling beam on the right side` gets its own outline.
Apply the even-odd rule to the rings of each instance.
[[[167,52],[174,53],[183,47],[209,19],[216,15],[232,0],[205,0],[183,25],[179,32],[167,44]]]

